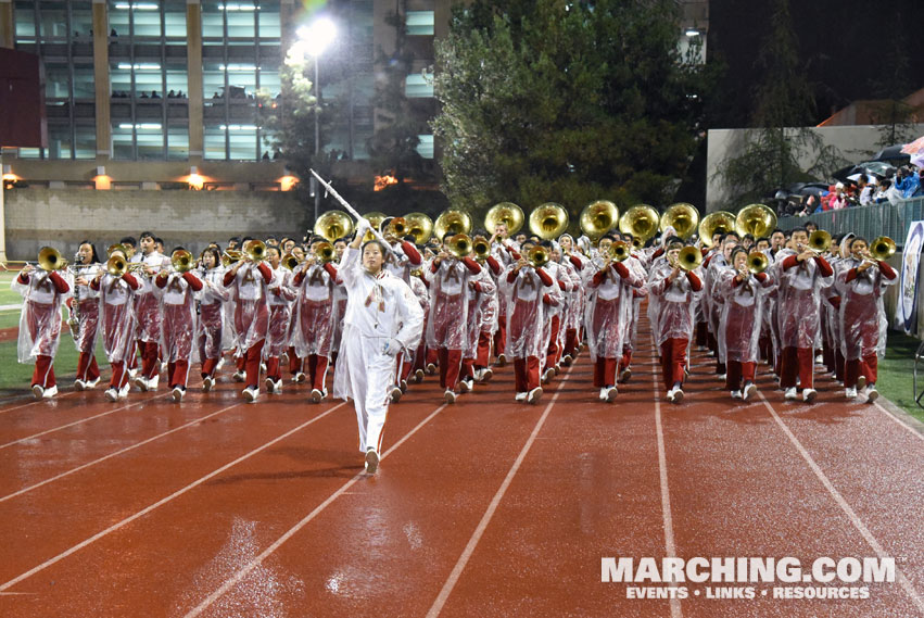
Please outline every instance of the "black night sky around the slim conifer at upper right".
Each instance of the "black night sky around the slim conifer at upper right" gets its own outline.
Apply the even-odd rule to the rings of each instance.
[[[747,126],[760,81],[755,61],[770,31],[773,0],[711,0],[709,49],[727,72],[710,128]],[[814,87],[817,122],[858,99],[876,99],[894,64],[891,38],[906,50],[909,94],[924,88],[924,0],[790,0],[799,55]]]

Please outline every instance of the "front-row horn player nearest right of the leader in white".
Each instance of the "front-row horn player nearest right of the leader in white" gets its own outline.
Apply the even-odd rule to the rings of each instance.
[[[445,243],[453,235],[446,235]],[[453,256],[440,251],[429,268],[430,314],[427,321],[427,346],[435,350],[440,365],[440,388],[445,389],[446,403],[455,403],[456,384],[461,370],[463,350],[468,332],[469,283],[481,273],[478,262],[465,255]]]

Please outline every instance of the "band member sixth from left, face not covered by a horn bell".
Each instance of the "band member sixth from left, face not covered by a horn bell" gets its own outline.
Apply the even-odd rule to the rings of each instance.
[[[208,392],[215,386],[215,369],[221,360],[225,336],[224,305],[231,294],[224,285],[225,269],[217,249],[202,253],[202,270],[199,279],[202,291],[199,302],[199,357],[202,360],[202,390]]]

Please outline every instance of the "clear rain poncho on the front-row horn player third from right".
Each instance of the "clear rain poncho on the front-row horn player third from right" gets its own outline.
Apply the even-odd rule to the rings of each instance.
[[[764,281],[750,273],[743,281],[737,273],[725,268],[719,273],[712,289],[722,297],[719,319],[720,357],[739,363],[756,363],[760,358],[760,328],[763,323],[764,300],[773,289],[770,275]]]

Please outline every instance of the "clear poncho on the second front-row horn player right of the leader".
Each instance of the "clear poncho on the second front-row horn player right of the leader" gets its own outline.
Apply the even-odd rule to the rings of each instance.
[[[558,282],[540,268],[543,276],[532,266],[524,266],[514,275],[516,264],[511,264],[498,279],[503,298],[507,306],[507,348],[504,351],[514,358],[536,356],[545,360],[548,348],[548,306],[543,298],[548,294],[553,302],[560,302]],[[545,281],[543,281],[543,277]],[[546,285],[548,283],[548,285]]]

